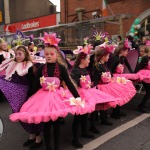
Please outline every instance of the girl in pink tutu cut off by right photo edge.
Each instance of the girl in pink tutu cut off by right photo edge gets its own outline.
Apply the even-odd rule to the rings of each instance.
[[[147,55],[142,57],[140,64],[138,65],[136,72],[140,75],[143,87],[146,94],[143,97],[142,102],[138,105],[138,111],[146,113],[146,103],[150,99],[150,42],[144,47]]]

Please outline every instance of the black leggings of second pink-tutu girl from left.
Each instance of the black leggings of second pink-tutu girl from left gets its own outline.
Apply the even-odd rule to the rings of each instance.
[[[87,132],[87,117],[88,114],[84,115],[74,115],[73,123],[72,123],[72,133],[73,133],[73,141],[78,141],[79,135],[79,124],[81,123],[82,134]]]

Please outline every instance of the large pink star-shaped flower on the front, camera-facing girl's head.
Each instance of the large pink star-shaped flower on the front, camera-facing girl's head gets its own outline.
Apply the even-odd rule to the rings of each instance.
[[[58,47],[58,43],[61,39],[56,37],[56,33],[48,34],[44,32],[44,37],[40,38],[42,41],[44,41],[44,44],[54,45]]]

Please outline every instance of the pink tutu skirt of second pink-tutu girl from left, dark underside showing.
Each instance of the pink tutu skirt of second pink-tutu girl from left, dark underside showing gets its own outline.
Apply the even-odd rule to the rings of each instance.
[[[115,98],[107,93],[99,91],[96,88],[78,89],[79,94],[82,99],[88,100],[89,105],[96,104],[95,110],[107,110],[109,108],[116,107],[115,101],[119,100],[119,98]]]

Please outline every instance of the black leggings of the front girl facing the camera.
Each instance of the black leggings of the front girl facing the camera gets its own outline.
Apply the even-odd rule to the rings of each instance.
[[[59,143],[60,143],[60,119],[56,121],[49,121],[44,123],[44,140],[46,150],[51,149],[51,128],[53,126],[53,139],[54,139],[54,149],[59,150]]]

